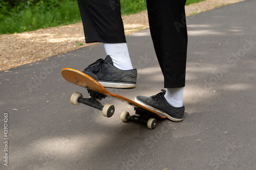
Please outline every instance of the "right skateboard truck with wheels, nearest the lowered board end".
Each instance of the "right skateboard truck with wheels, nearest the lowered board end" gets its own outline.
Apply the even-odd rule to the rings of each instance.
[[[123,111],[120,115],[120,118],[123,122],[127,122],[128,120],[132,120],[136,123],[147,124],[148,129],[155,129],[157,126],[157,120],[155,118],[145,119],[142,116],[147,113],[147,111],[140,107],[135,107],[135,115],[130,116],[129,112]]]

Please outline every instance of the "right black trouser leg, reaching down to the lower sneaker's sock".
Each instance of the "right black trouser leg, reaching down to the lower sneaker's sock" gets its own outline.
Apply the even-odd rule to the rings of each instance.
[[[185,86],[187,53],[185,2],[184,0],[147,0],[151,36],[164,76],[165,88]]]

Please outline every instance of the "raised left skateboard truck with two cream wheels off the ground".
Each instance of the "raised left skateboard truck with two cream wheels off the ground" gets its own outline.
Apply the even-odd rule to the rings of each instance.
[[[70,102],[73,105],[79,105],[80,103],[91,106],[93,108],[96,108],[98,110],[102,110],[102,114],[105,117],[111,117],[113,116],[115,112],[114,105],[111,104],[105,104],[104,106],[100,103],[100,101],[104,98],[106,98],[106,95],[98,93],[96,91],[88,89],[88,93],[90,94],[91,98],[83,98],[82,94],[79,92],[74,92],[71,95]]]

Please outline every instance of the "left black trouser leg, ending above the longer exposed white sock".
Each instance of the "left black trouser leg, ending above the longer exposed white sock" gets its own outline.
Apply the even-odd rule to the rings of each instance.
[[[77,0],[86,42],[126,43],[120,1]]]

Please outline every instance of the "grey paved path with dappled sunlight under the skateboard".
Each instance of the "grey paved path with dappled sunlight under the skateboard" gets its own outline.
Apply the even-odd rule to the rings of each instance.
[[[187,18],[185,119],[158,119],[155,130],[122,123],[120,112],[133,108],[121,102],[112,118],[70,104],[73,92],[86,91],[60,70],[82,70],[105,57],[102,44],[0,72],[0,169],[255,169],[255,7],[247,0]],[[138,86],[111,91],[129,99],[156,94],[163,77],[149,30],[127,42]]]

